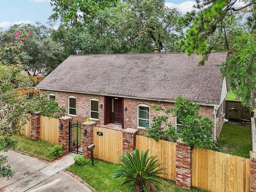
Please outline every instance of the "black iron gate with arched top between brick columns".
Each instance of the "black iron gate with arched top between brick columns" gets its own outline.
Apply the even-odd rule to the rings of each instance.
[[[82,155],[82,123],[78,121],[69,122],[69,152]]]

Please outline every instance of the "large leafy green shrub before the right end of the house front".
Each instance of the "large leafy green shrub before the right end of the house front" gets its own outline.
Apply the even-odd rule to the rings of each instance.
[[[208,117],[199,114],[200,106],[188,99],[177,97],[174,107],[164,109],[153,105],[155,110],[164,111],[165,115],[153,117],[153,124],[148,129],[149,137],[158,140],[175,142],[178,138],[188,142],[192,147],[215,149],[216,142],[213,139],[212,128],[214,123]],[[182,126],[177,126],[177,130],[171,125],[170,116],[179,119]]]

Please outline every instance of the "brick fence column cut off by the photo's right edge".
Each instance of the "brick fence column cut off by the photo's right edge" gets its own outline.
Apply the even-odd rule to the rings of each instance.
[[[250,152],[250,192],[256,191],[256,152]]]

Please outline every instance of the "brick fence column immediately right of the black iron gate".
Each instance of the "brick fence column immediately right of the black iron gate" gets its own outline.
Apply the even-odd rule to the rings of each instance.
[[[87,158],[87,159],[90,159],[92,156],[91,156],[91,152],[90,151],[87,151],[86,147],[90,146],[93,144],[93,127],[97,125],[97,122],[93,122],[93,121],[90,121],[90,122],[84,122],[82,124],[82,130],[83,132],[85,131],[86,132],[86,135],[84,136],[83,134],[83,143],[82,143],[82,146],[83,146],[83,155]],[[109,138],[111,139],[111,138]]]

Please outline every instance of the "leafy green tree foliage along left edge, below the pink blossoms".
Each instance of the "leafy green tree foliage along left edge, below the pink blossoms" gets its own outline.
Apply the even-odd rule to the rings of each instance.
[[[1,58],[0,51],[0,58]],[[27,121],[27,98],[17,97],[15,89],[22,88],[32,83],[22,74],[21,66],[6,66],[0,60],[0,153],[7,151],[16,143],[10,137],[19,133],[21,125]],[[13,172],[0,156],[0,176],[12,177]]]

